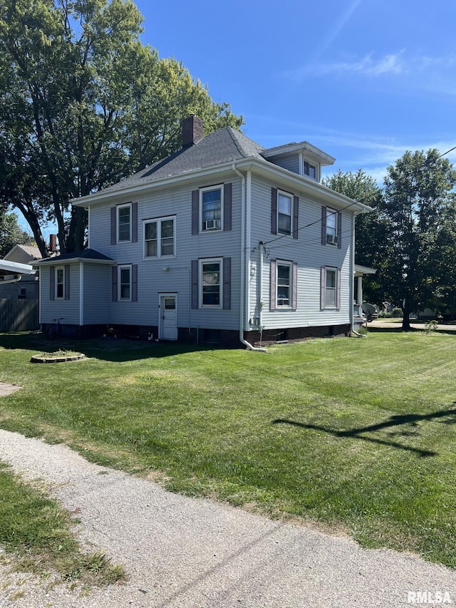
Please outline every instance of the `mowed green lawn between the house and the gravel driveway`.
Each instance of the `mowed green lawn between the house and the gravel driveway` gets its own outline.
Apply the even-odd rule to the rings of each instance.
[[[456,336],[274,346],[269,354],[0,336],[0,426],[179,492],[345,530],[456,567]],[[55,350],[55,344],[49,349]]]

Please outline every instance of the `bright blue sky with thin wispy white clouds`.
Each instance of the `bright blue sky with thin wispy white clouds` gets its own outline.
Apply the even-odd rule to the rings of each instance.
[[[405,150],[456,146],[454,0],[135,4],[142,41],[182,61],[266,148],[307,140],[336,157],[328,172],[383,182]]]

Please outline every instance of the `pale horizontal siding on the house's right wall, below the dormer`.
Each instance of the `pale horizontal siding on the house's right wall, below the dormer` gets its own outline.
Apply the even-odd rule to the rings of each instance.
[[[264,329],[311,327],[346,324],[350,322],[351,294],[351,214],[342,213],[342,247],[321,244],[321,204],[299,196],[299,237],[271,234],[271,187],[274,182],[252,179],[252,248],[249,277],[249,317],[259,316],[259,302],[264,302],[261,324]],[[261,286],[259,284],[259,242],[266,245]],[[297,307],[269,309],[270,262],[279,259],[298,264]],[[341,306],[321,310],[321,267],[341,268]],[[261,292],[261,297],[259,296]]]

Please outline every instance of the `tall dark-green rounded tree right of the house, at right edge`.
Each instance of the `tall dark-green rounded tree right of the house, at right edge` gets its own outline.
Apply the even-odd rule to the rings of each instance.
[[[388,167],[383,284],[403,309],[403,329],[410,329],[412,311],[435,303],[439,294],[442,303],[450,299],[456,270],[455,185],[456,171],[438,150],[408,151]]]

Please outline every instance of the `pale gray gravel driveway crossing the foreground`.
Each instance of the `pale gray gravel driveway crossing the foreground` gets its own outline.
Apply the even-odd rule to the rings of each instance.
[[[78,510],[81,540],[129,576],[86,596],[27,580],[19,585],[24,597],[11,599],[24,574],[1,567],[2,608],[397,608],[438,597],[456,604],[456,572],[444,567],[172,494],[88,463],[65,445],[0,430],[0,460],[45,480],[66,509]]]

